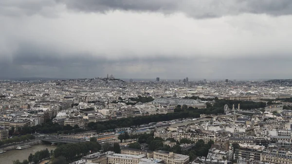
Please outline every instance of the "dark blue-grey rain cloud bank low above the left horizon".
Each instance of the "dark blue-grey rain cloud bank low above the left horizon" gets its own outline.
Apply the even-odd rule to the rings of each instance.
[[[106,56],[106,55],[103,55]],[[89,53],[68,54],[50,47],[20,43],[18,50],[11,58],[0,60],[0,78],[5,77],[57,77],[57,78],[88,78],[106,73],[114,73],[111,68],[118,69],[119,77],[125,77],[125,67],[131,65],[174,63],[180,61],[176,57],[129,57],[107,59]],[[129,70],[128,70],[129,71]],[[124,73],[124,74],[123,74]],[[150,73],[150,72],[149,72]]]

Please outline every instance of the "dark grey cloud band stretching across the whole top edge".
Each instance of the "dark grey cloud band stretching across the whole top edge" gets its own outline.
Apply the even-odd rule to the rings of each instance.
[[[0,14],[22,16],[57,15],[58,5],[81,12],[107,13],[113,10],[133,12],[182,12],[194,18],[214,18],[242,13],[291,15],[292,0],[0,0]]]

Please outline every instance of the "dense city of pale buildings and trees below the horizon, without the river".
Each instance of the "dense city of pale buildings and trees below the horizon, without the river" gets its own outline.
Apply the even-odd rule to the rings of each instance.
[[[292,80],[2,80],[10,163],[290,164]],[[9,162],[9,161],[8,161]]]

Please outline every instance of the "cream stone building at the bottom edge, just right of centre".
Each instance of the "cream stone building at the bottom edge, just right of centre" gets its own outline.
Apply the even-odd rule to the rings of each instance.
[[[153,158],[163,160],[165,164],[188,164],[190,159],[187,155],[161,150],[154,151]]]

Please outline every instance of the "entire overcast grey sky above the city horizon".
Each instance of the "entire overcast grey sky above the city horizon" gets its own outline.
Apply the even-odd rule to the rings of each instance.
[[[292,78],[292,0],[0,0],[0,77]]]

